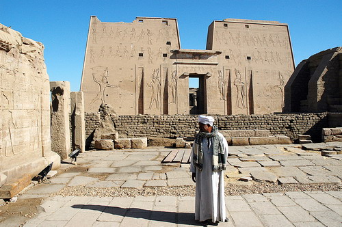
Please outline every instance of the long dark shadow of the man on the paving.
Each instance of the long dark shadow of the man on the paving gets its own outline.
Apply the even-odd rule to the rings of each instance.
[[[144,218],[150,221],[170,222],[174,224],[184,224],[192,226],[202,226],[194,219],[194,213],[170,212],[170,211],[150,211],[139,208],[122,208],[119,206],[102,206],[92,204],[75,204],[71,206],[75,209],[101,211],[122,217]]]

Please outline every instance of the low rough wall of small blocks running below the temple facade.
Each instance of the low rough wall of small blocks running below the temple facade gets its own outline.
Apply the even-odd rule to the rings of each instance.
[[[100,113],[87,112],[86,145],[92,140],[92,133],[100,124]],[[311,135],[321,141],[321,129],[328,126],[327,113],[317,114],[264,114],[213,116],[220,130],[263,129],[271,135],[287,135],[292,140],[298,135]],[[196,115],[127,115],[113,116],[119,137],[194,137],[197,130]]]

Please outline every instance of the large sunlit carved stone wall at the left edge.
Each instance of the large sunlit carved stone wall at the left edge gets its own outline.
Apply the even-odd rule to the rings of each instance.
[[[15,178],[31,183],[51,162],[53,169],[60,167],[60,156],[51,151],[50,86],[43,49],[40,42],[0,24],[0,186]],[[0,189],[1,198],[12,195]]]

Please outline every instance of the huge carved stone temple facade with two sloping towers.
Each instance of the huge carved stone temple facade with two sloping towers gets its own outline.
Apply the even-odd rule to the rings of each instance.
[[[181,49],[175,18],[91,16],[81,91],[85,111],[108,104],[119,115],[269,114],[283,110],[293,70],[284,23],[213,21],[206,50],[190,50]]]

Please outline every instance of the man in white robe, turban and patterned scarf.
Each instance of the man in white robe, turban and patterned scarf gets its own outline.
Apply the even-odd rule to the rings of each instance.
[[[196,135],[190,157],[190,172],[196,182],[195,220],[202,224],[228,222],[224,201],[228,144],[217,127],[213,126],[212,117],[200,115],[198,122],[200,132]]]

